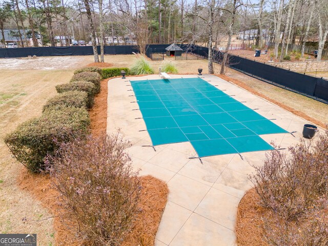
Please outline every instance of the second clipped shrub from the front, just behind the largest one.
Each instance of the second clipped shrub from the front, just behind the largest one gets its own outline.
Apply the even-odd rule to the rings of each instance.
[[[87,108],[88,94],[84,91],[67,91],[49,99],[43,111],[53,106]]]

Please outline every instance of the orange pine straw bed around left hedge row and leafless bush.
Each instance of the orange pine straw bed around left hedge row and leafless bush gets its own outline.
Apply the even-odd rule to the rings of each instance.
[[[91,133],[100,136],[106,133],[107,127],[107,82],[101,81],[101,91],[95,97],[95,104],[90,110]],[[53,214],[55,244],[57,246],[77,246],[81,241],[76,237],[76,226],[60,215],[65,214],[58,204],[58,192],[52,189],[49,175],[32,174],[22,169],[17,183],[19,187],[32,194],[42,205]],[[140,177],[141,194],[139,210],[132,231],[122,242],[122,246],[153,246],[155,236],[167,203],[169,193],[165,182],[150,175]],[[26,218],[28,221],[32,218]],[[51,218],[49,218],[51,219]]]

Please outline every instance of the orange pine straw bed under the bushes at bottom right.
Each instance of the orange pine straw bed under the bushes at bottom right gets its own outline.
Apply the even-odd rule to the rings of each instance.
[[[316,245],[323,245],[325,241],[316,239],[320,237],[320,231],[325,229],[322,228],[322,224],[321,226],[314,225],[314,221],[318,220],[322,223],[326,221],[327,216],[328,208],[324,208],[300,216],[297,221],[286,221],[272,209],[263,208],[259,195],[252,188],[246,192],[238,205],[235,226],[236,243],[238,246],[290,245],[289,243],[295,240],[293,245],[310,245],[313,240],[318,243]],[[310,241],[304,242],[308,239]],[[274,241],[269,244],[269,240]]]

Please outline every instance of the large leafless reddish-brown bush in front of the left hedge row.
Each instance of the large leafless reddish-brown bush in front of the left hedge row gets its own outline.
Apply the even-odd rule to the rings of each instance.
[[[137,213],[138,173],[119,134],[61,146],[47,161],[66,217],[87,245],[119,245]]]

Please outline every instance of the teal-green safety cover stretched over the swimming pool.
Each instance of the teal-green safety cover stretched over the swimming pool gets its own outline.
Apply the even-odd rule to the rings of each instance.
[[[258,135],[288,133],[201,78],[131,85],[154,146],[190,141],[203,157],[273,150]]]

